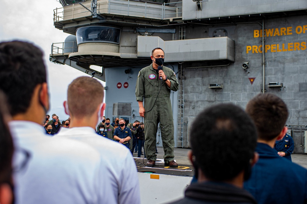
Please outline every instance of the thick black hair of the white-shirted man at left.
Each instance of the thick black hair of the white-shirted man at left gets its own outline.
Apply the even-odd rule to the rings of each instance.
[[[0,89],[7,95],[8,104],[11,106],[11,115],[25,113],[34,88],[46,82],[41,49],[27,42],[1,42],[0,81]]]

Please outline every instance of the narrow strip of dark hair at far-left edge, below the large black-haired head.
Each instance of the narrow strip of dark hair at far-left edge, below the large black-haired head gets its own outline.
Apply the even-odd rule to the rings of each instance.
[[[9,116],[6,97],[0,90],[0,183],[12,182],[13,139],[7,125]]]

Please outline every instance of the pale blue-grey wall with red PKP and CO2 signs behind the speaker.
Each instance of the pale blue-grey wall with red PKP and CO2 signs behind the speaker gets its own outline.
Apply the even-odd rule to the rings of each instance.
[[[167,54],[165,54],[167,57]],[[149,64],[148,64],[149,65]],[[165,65],[169,68],[172,68],[175,73],[178,72],[177,64]],[[136,101],[135,97],[135,84],[136,79],[138,77],[138,72],[145,66],[142,67],[134,67],[131,68],[130,74],[125,74],[125,70],[129,69],[128,67],[114,67],[114,68],[106,68],[106,110],[105,116],[109,117],[112,120],[112,113],[113,113],[113,103],[131,103],[131,116],[130,122],[134,122],[135,120],[141,121],[142,118],[138,113],[138,102]],[[177,75],[177,74],[176,74]],[[121,83],[121,88],[118,88],[117,84]],[[124,88],[124,84],[128,83],[128,87]],[[174,121],[174,140],[175,140],[175,147],[177,147],[177,101],[178,101],[178,91],[174,92],[171,91],[170,96],[172,107],[173,107],[173,121]],[[134,110],[132,117],[132,111]],[[143,120],[144,122],[144,120]],[[145,130],[146,131],[146,130]],[[158,147],[162,147],[162,140],[161,140],[161,133],[160,137],[158,137],[159,132],[157,133],[157,144]]]

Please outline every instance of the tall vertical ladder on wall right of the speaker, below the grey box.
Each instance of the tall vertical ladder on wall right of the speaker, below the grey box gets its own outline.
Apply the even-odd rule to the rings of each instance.
[[[184,104],[185,104],[185,67],[180,64],[179,72],[179,92],[178,92],[178,125],[177,125],[177,147],[185,148],[183,141],[183,128],[184,128]]]

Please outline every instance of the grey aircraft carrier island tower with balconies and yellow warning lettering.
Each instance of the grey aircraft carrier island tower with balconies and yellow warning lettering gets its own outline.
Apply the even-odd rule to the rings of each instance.
[[[71,34],[53,43],[50,61],[106,82],[105,115],[142,121],[135,83],[165,51],[179,90],[171,93],[175,147],[188,148],[192,121],[205,107],[245,108],[274,93],[289,108],[294,153],[307,153],[306,0],[60,0],[54,26]],[[63,39],[64,40],[64,39]],[[99,70],[92,65],[99,66]],[[202,121],[199,121],[201,128]],[[157,133],[161,146],[161,134]],[[231,145],[231,144],[229,144]]]

